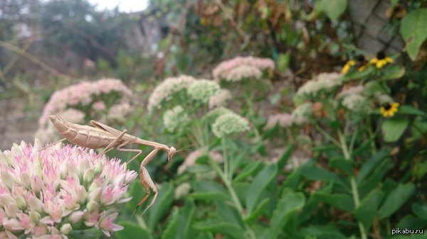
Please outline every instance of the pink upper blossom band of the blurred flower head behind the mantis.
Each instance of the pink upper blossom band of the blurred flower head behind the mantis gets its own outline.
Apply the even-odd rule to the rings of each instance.
[[[97,82],[80,82],[70,87],[56,91],[43,109],[38,120],[40,127],[46,127],[51,111],[59,113],[75,106],[88,106],[93,104],[94,96],[110,94],[113,91],[121,94],[121,103],[132,99],[132,91],[122,83],[120,79],[100,79]],[[94,110],[102,108],[100,102],[93,105]]]

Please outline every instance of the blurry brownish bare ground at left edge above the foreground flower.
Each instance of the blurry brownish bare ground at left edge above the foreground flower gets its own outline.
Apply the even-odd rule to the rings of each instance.
[[[40,112],[29,110],[26,98],[0,100],[0,112],[0,150],[9,150],[21,140],[33,143]]]

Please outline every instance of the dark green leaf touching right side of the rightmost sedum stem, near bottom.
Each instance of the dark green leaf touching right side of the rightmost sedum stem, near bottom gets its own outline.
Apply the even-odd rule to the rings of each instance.
[[[381,204],[383,197],[384,193],[382,191],[373,190],[360,202],[356,210],[354,210],[354,216],[363,223],[367,230],[369,230],[371,224],[374,222],[376,209],[378,209],[379,204]]]

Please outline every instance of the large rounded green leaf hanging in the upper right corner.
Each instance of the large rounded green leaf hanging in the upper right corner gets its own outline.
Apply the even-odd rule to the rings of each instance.
[[[401,34],[406,42],[406,52],[415,60],[418,51],[427,38],[427,9],[416,9],[401,21]]]

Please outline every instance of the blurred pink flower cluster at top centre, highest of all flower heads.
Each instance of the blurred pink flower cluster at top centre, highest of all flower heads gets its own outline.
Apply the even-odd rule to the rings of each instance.
[[[221,62],[212,71],[215,79],[237,82],[245,78],[260,79],[263,70],[274,70],[273,60],[258,57],[234,57]]]

